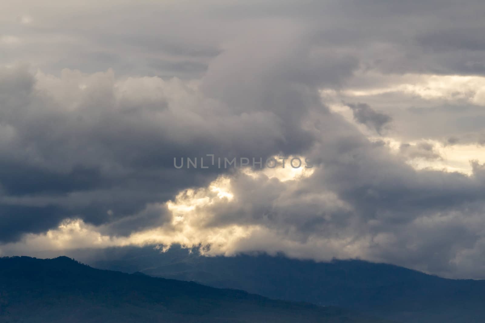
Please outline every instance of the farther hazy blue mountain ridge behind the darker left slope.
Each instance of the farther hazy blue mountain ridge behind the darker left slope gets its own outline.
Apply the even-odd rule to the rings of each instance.
[[[300,261],[283,256],[204,257],[173,246],[77,251],[99,267],[193,280],[267,297],[367,311],[409,323],[485,322],[484,280],[455,280],[367,261]]]

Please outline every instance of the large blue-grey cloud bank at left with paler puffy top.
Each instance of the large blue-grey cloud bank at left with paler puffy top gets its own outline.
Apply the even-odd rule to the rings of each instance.
[[[285,121],[284,110],[240,112],[177,79],[115,80],[112,71],[69,70],[61,77],[33,76],[25,67],[3,69],[0,79],[5,205],[39,212],[62,207],[57,216],[80,215],[95,224],[109,220],[108,210],[136,213],[224,171],[175,169],[174,157],[264,158],[298,152],[311,142],[298,120]],[[32,209],[25,213],[24,222],[46,221]],[[15,218],[8,212],[2,217]],[[8,240],[25,227],[8,220],[2,230]]]

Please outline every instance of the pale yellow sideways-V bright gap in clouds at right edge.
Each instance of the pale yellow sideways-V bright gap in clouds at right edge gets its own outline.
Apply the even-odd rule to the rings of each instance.
[[[335,113],[340,114],[349,123],[353,123],[360,132],[372,142],[385,142],[389,150],[402,156],[404,161],[415,169],[436,169],[472,174],[473,162],[485,162],[485,149],[481,143],[443,142],[436,138],[403,141],[392,129],[376,136],[375,131],[355,120],[353,110],[347,102],[379,102],[385,105],[389,94],[419,99],[435,104],[470,104],[485,106],[485,77],[458,75],[381,75],[367,72],[359,74],[351,84],[341,91],[322,89],[323,102]],[[373,85],[373,84],[378,84]],[[381,84],[381,85],[379,85]],[[405,106],[408,108],[408,106]],[[399,108],[393,108],[399,109]],[[392,115],[392,108],[390,109]],[[386,112],[386,111],[384,111]],[[393,135],[396,135],[393,137]],[[418,149],[428,145],[430,154],[403,154],[406,147]]]

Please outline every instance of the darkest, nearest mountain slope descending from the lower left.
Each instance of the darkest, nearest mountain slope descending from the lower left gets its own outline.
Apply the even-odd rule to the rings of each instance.
[[[98,270],[66,257],[1,258],[0,312],[0,322],[29,323],[383,322],[339,308]]]

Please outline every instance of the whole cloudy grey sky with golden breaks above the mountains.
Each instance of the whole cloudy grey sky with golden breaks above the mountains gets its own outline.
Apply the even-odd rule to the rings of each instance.
[[[483,1],[1,7],[0,255],[181,244],[485,278]],[[207,154],[280,165],[174,167]]]

